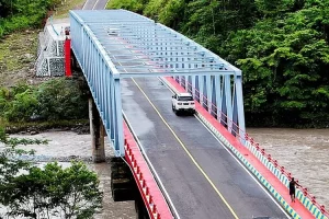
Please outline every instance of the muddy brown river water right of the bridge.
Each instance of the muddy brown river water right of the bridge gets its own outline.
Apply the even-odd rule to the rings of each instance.
[[[329,209],[329,129],[248,128],[247,132]]]

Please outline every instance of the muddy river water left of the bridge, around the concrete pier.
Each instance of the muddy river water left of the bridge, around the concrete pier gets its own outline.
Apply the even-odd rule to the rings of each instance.
[[[111,165],[109,163],[92,163],[92,149],[90,135],[79,135],[76,131],[49,130],[31,136],[30,134],[15,134],[10,137],[37,138],[48,140],[48,145],[20,146],[22,149],[35,150],[33,161],[43,164],[49,161],[59,161],[63,166],[69,165],[72,159],[82,160],[90,170],[98,173],[101,191],[104,193],[103,209],[94,216],[95,219],[133,219],[136,218],[134,201],[114,203],[111,194]],[[106,145],[105,154],[109,162],[114,155]]]

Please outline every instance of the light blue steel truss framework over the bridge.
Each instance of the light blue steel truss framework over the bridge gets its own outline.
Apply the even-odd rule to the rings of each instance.
[[[173,77],[235,134],[245,132],[241,70],[126,10],[70,11],[71,45],[116,155],[124,155],[120,79]],[[224,118],[224,114],[227,117]]]

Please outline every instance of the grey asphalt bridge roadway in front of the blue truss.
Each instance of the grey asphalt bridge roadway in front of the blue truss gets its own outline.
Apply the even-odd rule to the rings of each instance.
[[[122,95],[123,110],[181,218],[286,218],[194,116],[172,113],[171,92],[157,78],[125,79]]]

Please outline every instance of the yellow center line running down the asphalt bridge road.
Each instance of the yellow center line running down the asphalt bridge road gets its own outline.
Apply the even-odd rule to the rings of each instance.
[[[235,219],[239,219],[239,217],[237,216],[237,214],[234,211],[234,209],[230,207],[230,205],[227,203],[227,200],[224,198],[224,196],[222,195],[222,193],[218,191],[218,188],[215,186],[215,184],[213,183],[213,181],[211,180],[211,177],[205,173],[205,171],[201,168],[201,165],[196,162],[196,160],[193,158],[193,155],[190,153],[190,151],[188,150],[188,148],[185,147],[185,145],[181,141],[181,139],[177,136],[177,134],[174,132],[174,130],[169,126],[169,124],[166,122],[166,119],[163,118],[163,116],[160,114],[160,112],[158,111],[158,108],[155,106],[155,104],[150,101],[150,99],[146,95],[146,93],[143,91],[143,89],[138,85],[138,83],[132,78],[132,80],[134,81],[134,83],[136,84],[136,87],[140,90],[140,92],[144,94],[144,96],[147,99],[147,101],[150,103],[150,105],[154,107],[154,110],[157,112],[157,114],[159,115],[159,117],[161,118],[161,120],[164,123],[164,125],[168,127],[168,129],[172,132],[172,135],[174,136],[174,138],[179,141],[179,143],[181,145],[181,147],[184,149],[184,151],[188,153],[188,155],[190,157],[190,159],[192,160],[192,162],[194,163],[194,165],[200,170],[200,172],[203,174],[203,176],[208,181],[208,183],[212,185],[212,187],[215,189],[215,192],[218,194],[218,196],[220,197],[220,199],[225,203],[225,205],[227,206],[227,208],[229,209],[229,211],[231,212],[231,215],[235,217]]]

